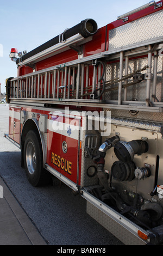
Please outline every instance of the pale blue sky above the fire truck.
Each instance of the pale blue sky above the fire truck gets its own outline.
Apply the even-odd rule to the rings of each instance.
[[[18,52],[33,50],[58,34],[91,18],[98,28],[117,16],[151,0],[0,0],[0,83],[5,92],[5,79],[17,76],[17,65],[9,58],[11,48]],[[157,1],[156,1],[157,2]],[[3,47],[3,56],[1,49]]]

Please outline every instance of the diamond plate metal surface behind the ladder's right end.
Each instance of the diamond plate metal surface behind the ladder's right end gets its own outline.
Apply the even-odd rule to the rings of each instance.
[[[134,70],[142,69],[148,64],[148,58],[133,59],[129,61],[128,74],[134,72]],[[153,68],[154,61],[152,59],[152,81],[151,81],[151,98],[153,93]],[[156,97],[162,102],[163,101],[163,89],[162,89],[162,57],[158,57],[158,66],[157,66],[157,77],[156,77]],[[146,74],[147,70],[141,72],[141,74]],[[120,64],[112,63],[106,66],[106,81],[113,80],[119,77],[120,74]],[[123,63],[123,76],[125,75],[125,62]],[[131,82],[132,78],[128,79],[128,82]],[[123,82],[124,84],[124,82]],[[118,87],[118,83],[113,84],[109,88],[110,92],[105,93],[105,100],[117,100],[118,99],[118,90],[114,88]],[[124,99],[124,89],[122,89],[122,100]],[[146,80],[141,83],[137,83],[134,86],[127,88],[127,100],[137,100],[145,101],[146,100]]]

